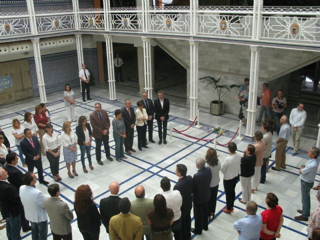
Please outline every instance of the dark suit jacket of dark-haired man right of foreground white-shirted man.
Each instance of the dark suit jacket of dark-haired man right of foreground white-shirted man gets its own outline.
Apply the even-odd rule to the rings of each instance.
[[[180,178],[173,186],[182,196],[181,212],[189,212],[192,208],[192,176],[187,175]]]

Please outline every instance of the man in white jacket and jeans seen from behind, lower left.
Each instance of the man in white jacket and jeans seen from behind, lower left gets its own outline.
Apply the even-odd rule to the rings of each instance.
[[[35,188],[36,177],[28,171],[23,175],[19,195],[24,207],[25,218],[31,222],[32,239],[46,240],[48,233],[48,215],[43,208],[44,195]]]

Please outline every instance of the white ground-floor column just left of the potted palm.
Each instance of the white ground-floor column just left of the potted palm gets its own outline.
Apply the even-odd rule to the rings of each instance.
[[[198,42],[189,40],[190,44],[190,121],[198,110]]]

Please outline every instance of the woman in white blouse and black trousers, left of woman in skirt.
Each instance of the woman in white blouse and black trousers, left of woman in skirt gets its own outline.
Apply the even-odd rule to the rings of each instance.
[[[53,132],[50,123],[45,125],[45,133],[42,137],[43,147],[50,163],[50,170],[55,181],[62,180],[59,175],[60,140],[58,134]]]

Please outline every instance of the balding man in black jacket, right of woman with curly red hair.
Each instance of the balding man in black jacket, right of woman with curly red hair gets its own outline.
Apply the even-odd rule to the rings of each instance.
[[[120,209],[118,207],[118,204],[121,200],[121,198],[118,196],[119,187],[120,186],[118,182],[111,182],[109,185],[109,191],[111,195],[100,200],[100,217],[107,233],[109,233],[110,218],[120,213]]]

